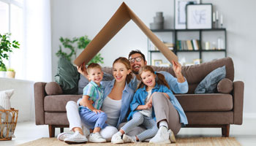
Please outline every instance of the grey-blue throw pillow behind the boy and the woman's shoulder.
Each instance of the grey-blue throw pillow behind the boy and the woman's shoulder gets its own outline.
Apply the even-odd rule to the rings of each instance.
[[[113,80],[114,77],[112,74],[108,74],[107,72],[103,72],[103,79],[102,81],[108,81]],[[89,80],[86,79],[86,77],[83,77],[82,74],[80,74],[80,80],[78,82],[78,94],[83,94],[83,88],[86,87],[86,85],[89,83]]]

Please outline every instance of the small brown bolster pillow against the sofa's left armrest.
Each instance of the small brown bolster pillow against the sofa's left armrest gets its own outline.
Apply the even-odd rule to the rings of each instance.
[[[47,82],[45,85],[45,92],[47,95],[59,95],[62,94],[62,89],[57,82]]]

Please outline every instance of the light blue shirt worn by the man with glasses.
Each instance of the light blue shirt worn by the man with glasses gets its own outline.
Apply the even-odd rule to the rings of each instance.
[[[189,91],[189,85],[187,83],[187,80],[185,80],[185,82],[178,82],[177,78],[173,77],[173,75],[168,72],[160,71],[157,73],[163,74],[165,76],[165,80],[170,86],[170,90],[174,93],[187,93],[187,91]],[[133,78],[131,82],[129,82],[129,87],[134,90],[136,90],[136,88],[138,87],[138,80],[136,76]],[[188,123],[187,116],[185,115],[185,112],[181,107],[181,104],[179,104],[178,99],[176,99],[176,97],[173,95],[173,92],[167,93],[168,96],[170,97],[170,102],[178,111],[178,114],[180,115],[180,122],[186,125]]]

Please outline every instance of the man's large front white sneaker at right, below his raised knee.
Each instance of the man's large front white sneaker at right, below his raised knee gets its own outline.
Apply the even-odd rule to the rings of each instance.
[[[149,141],[154,144],[170,144],[170,131],[165,126],[161,126],[157,134]]]

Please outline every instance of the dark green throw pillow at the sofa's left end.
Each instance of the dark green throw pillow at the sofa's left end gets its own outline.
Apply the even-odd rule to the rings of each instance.
[[[61,86],[63,93],[78,93],[78,80],[78,69],[67,58],[60,58],[55,81]]]

